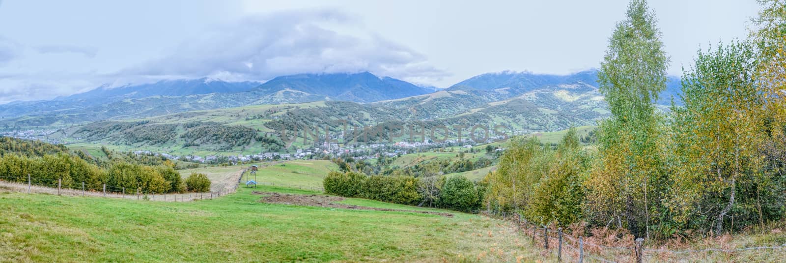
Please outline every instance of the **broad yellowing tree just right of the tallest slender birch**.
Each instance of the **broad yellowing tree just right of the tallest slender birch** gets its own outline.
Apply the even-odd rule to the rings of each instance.
[[[755,63],[751,46],[732,43],[699,52],[693,69],[685,72],[685,107],[673,109],[678,143],[672,147],[673,199],[667,202],[680,224],[714,228],[720,235],[723,224],[731,224],[728,213],[735,214],[737,226],[772,213],[761,206],[772,199],[762,201],[760,193],[772,191],[766,183],[771,178],[762,173],[766,108]]]

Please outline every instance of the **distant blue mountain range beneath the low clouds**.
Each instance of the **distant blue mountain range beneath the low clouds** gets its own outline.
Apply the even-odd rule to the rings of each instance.
[[[678,91],[679,80],[670,78],[659,104],[670,104],[670,98]],[[279,76],[261,84],[203,78],[112,88],[104,86],[51,101],[0,105],[0,127],[73,125],[193,110],[316,101],[370,103],[370,106],[406,110],[413,114],[415,120],[451,117],[468,110],[511,102],[527,102],[536,108],[582,114],[575,115],[582,116],[582,120],[603,117],[605,110],[602,96],[597,91],[596,70],[569,75],[487,73],[442,91],[358,72]]]

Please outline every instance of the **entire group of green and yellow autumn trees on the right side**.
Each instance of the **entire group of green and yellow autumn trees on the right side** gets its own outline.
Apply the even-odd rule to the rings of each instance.
[[[490,208],[658,237],[784,218],[786,5],[760,2],[752,43],[700,51],[684,74],[685,106],[663,117],[652,104],[668,60],[654,16],[633,0],[598,74],[612,117],[587,137],[568,131],[556,150],[512,142],[484,180]],[[596,140],[597,152],[581,150]]]

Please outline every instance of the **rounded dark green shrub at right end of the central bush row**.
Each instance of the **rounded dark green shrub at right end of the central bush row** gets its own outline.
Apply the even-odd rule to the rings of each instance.
[[[445,208],[461,212],[470,212],[480,206],[475,183],[464,176],[450,176],[445,180],[439,202]]]

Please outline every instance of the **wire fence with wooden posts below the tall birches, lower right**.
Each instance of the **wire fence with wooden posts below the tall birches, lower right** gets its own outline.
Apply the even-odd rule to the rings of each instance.
[[[652,248],[643,246],[644,239],[635,239],[630,246],[606,246],[594,243],[582,236],[567,235],[562,228],[549,228],[535,225],[522,220],[520,215],[505,217],[516,224],[516,231],[530,237],[534,246],[542,246],[543,255],[557,257],[557,261],[599,261],[599,262],[647,262],[647,261],[692,261],[697,254],[700,257],[711,256],[709,253],[720,253],[722,258],[729,259],[737,253],[744,251],[762,252],[786,249],[786,243],[780,246],[750,246],[736,249],[705,248],[697,250],[669,250],[663,247]],[[754,255],[755,256],[755,255]],[[751,258],[751,257],[747,257]],[[766,255],[763,255],[766,259]],[[713,260],[710,258],[710,260]],[[774,258],[769,258],[774,260]]]

